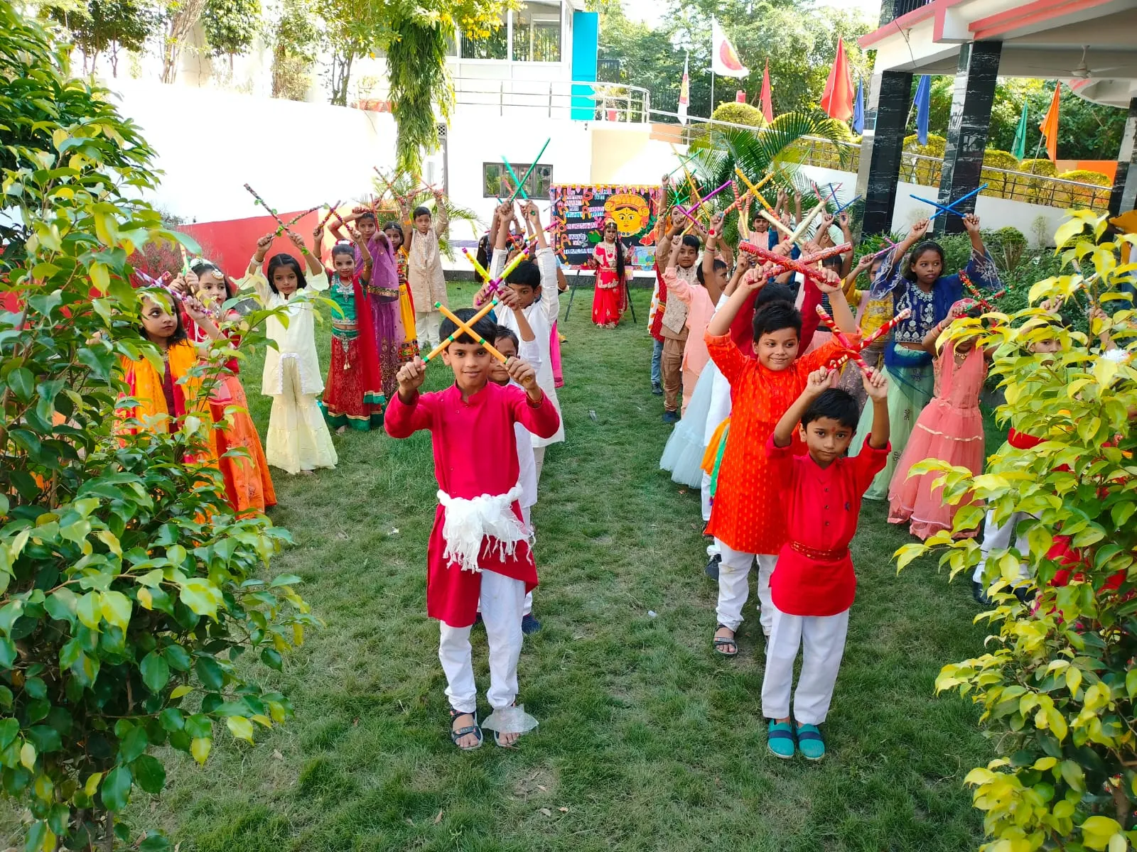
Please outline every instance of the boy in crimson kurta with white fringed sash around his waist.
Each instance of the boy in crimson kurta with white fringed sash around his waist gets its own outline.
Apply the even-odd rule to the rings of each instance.
[[[468,321],[473,309],[455,311]],[[492,340],[497,326],[482,318],[474,333]],[[442,323],[442,340],[457,331]],[[426,545],[426,615],[440,625],[438,657],[450,699],[450,738],[463,751],[482,744],[470,628],[481,604],[490,658],[490,705],[501,711],[517,696],[517,658],[525,593],[537,586],[537,568],[522,521],[514,424],[551,437],[561,417],[537,384],[532,367],[506,362],[521,387],[489,381],[493,358],[463,333],[442,352],[455,383],[420,394],[426,365],[418,357],[399,370],[399,392],[388,404],[384,427],[391,437],[430,429],[440,506]],[[491,720],[487,720],[489,727]],[[518,732],[495,730],[498,745]]]

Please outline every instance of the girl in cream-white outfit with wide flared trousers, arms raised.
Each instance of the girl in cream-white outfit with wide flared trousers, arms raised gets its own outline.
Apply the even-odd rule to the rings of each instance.
[[[288,325],[277,317],[269,317],[265,334],[276,348],[265,348],[265,370],[260,392],[273,398],[265,435],[265,458],[273,467],[290,474],[310,474],[316,468],[335,467],[338,458],[316,394],[324,390],[324,381],[316,357],[315,311],[309,292],[327,290],[327,274],[319,262],[323,228],[313,234],[312,252],[305,254],[308,275],[291,254],[274,254],[268,261],[267,276],[260,265],[272,245],[274,235],[257,241],[257,251],[249,261],[239,289],[252,289],[262,306],[272,310],[285,307]],[[289,239],[304,250],[297,234]]]

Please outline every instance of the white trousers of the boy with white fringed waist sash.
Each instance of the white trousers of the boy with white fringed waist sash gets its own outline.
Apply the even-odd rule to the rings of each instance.
[[[482,571],[479,604],[485,625],[490,652],[490,707],[509,707],[517,698],[517,658],[521,657],[521,615],[525,584],[493,571]],[[446,673],[446,696],[450,707],[472,713],[478,707],[474,665],[470,648],[470,627],[450,627],[440,621],[438,659]]]

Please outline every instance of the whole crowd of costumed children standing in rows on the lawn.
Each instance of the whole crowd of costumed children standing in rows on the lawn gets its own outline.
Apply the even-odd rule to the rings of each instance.
[[[666,178],[663,189],[665,198]],[[435,212],[406,210],[382,227],[367,206],[337,212],[330,245],[323,226],[310,249],[288,232],[302,261],[279,253],[266,262],[277,234],[265,235],[235,284],[199,260],[173,281],[174,298],[150,292],[142,331],[166,369],[159,375],[146,359],[124,360],[136,403],[124,417],[135,418],[132,427],[153,427],[208,411],[217,428],[204,461],[222,473],[236,512],[275,503],[269,466],[289,474],[334,467],[331,429],[381,427],[395,438],[429,431],[439,506],[426,549],[428,615],[440,621],[450,736],[466,751],[482,744],[483,728],[512,745],[537,724],[515,700],[522,637],[539,628],[531,613],[531,510],[546,448],[565,440],[556,390],[565,283],[537,206],[522,204],[518,219],[514,204],[504,203],[479,250],[483,286],[474,307],[451,312],[439,244],[446,207],[435,198]],[[926,239],[928,220],[854,267],[846,216],[825,215],[814,233],[791,234],[803,220],[800,198],[792,207],[779,193],[737,249],[727,243],[722,215],[704,228],[681,210],[659,210],[648,321],[653,392],[664,398],[664,421],[675,424],[661,467],[700,490],[712,540],[706,573],[719,593],[711,648],[739,653],[736,634],[756,565],[769,749],[819,760],[825,753],[819,726],[855,598],[849,543],[862,499],[887,499],[889,521],[928,538],[952,529],[960,504],[945,504],[936,475],[910,475],[913,466],[932,458],[981,470],[979,394],[993,352],[954,335],[945,343],[944,335],[984,312],[986,303],[964,291],[993,290],[998,276],[974,215],[964,218],[971,258],[953,273],[939,244]],[[614,222],[604,223],[592,261],[592,321],[615,327],[629,267]],[[235,360],[224,362],[207,399],[194,395],[200,378],[192,367],[205,357],[224,359],[234,325],[219,314],[242,290],[282,315],[266,329],[275,345],[265,351],[262,379],[272,398],[264,450]],[[326,381],[312,301],[324,293],[334,303]],[[1036,350],[1048,346],[1043,341]],[[454,384],[423,393],[435,348]],[[1030,441],[1037,438],[1010,437],[1012,446]],[[232,448],[247,452],[226,457]],[[1013,520],[989,523],[984,552],[1005,546],[1013,528]],[[982,570],[974,577],[979,600]],[[478,621],[487,633],[492,708],[482,722],[470,643]]]

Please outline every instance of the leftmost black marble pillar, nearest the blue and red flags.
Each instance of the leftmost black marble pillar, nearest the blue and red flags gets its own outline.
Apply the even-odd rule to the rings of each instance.
[[[864,199],[864,234],[886,234],[893,228],[911,101],[911,72],[887,70],[873,77],[856,176],[856,194]]]

